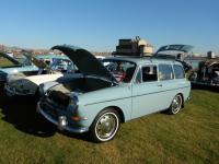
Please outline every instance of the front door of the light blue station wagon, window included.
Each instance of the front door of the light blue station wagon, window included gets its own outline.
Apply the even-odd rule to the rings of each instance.
[[[162,83],[158,80],[158,65],[139,67],[132,83],[132,113],[137,118],[162,108]]]

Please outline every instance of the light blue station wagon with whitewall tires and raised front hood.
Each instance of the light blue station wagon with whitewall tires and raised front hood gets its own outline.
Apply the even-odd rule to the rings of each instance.
[[[80,73],[41,85],[37,110],[61,130],[89,131],[96,142],[112,140],[122,122],[147,114],[176,114],[189,98],[191,83],[181,62],[152,57],[108,57],[55,46]]]

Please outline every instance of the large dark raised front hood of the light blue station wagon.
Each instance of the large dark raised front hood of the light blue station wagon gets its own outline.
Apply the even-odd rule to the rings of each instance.
[[[101,61],[88,50],[69,45],[54,46],[51,49],[60,50],[67,55],[81,73],[87,75],[97,75],[100,78],[105,78],[113,83],[118,83]]]

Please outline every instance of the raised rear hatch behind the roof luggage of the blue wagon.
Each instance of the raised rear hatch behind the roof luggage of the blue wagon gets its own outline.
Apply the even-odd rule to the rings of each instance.
[[[177,50],[177,51],[188,52],[192,49],[193,49],[193,46],[191,46],[191,45],[166,45],[166,46],[162,46],[161,48],[159,48],[157,50],[155,55],[161,51],[166,51],[166,50]]]

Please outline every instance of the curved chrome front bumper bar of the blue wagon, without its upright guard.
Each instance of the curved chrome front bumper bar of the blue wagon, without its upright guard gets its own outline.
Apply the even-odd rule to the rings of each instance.
[[[36,106],[36,110],[39,112],[47,120],[49,120],[50,122],[53,122],[54,125],[56,125],[57,127],[60,127],[58,125],[58,121],[53,119],[51,117],[49,117],[39,106],[39,102],[37,103],[37,106]],[[70,131],[70,132],[76,132],[76,133],[83,133],[83,132],[87,132],[89,131],[89,128],[71,128],[71,127],[68,127],[68,126],[65,126],[65,127],[61,127],[62,129],[67,130],[67,131]]]

